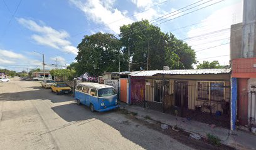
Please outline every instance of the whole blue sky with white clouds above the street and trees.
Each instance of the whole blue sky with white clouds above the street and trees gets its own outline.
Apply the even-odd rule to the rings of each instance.
[[[151,21],[173,11],[175,15],[168,15],[165,19],[177,18],[159,24],[162,31],[173,32],[179,39],[188,42],[198,51],[198,61],[218,60],[221,64],[228,64],[230,30],[227,28],[242,21],[242,0],[225,0],[213,4],[218,1],[0,0],[0,68],[16,71],[41,68],[41,54],[45,54],[47,69],[53,68],[51,64],[55,64],[55,58],[58,65],[65,66],[74,61],[76,47],[84,35],[99,31],[118,34],[119,26],[123,24],[142,18]],[[177,11],[193,2],[201,6]],[[209,4],[213,5],[186,14]],[[138,13],[141,11],[144,12]],[[183,14],[186,15],[180,16]],[[189,26],[191,24],[195,25]],[[213,31],[220,32],[202,36]],[[215,56],[221,57],[211,58]]]

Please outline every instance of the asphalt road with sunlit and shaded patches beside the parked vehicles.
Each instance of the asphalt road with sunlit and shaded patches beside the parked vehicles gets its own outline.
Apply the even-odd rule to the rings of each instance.
[[[191,149],[124,114],[91,113],[40,85],[0,83],[0,149]]]

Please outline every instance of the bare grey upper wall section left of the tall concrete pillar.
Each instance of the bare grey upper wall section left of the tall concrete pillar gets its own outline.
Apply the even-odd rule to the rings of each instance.
[[[242,23],[233,24],[230,29],[230,60],[242,58]]]

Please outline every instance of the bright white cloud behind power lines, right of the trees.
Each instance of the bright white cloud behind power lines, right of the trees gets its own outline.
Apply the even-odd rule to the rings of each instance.
[[[199,26],[191,27],[191,29],[187,32],[187,37],[191,39],[185,41],[188,42],[188,44],[192,46],[195,51],[198,51],[196,53],[196,57],[198,58],[198,61],[200,61],[200,63],[203,61],[216,60],[219,61],[220,64],[228,64],[229,56],[223,56],[230,54],[230,46],[229,44],[225,44],[229,42],[230,38],[230,29],[227,28],[230,28],[232,24],[238,22],[242,22],[242,1],[233,4],[232,6],[227,6],[213,12],[210,16],[201,21],[201,24]],[[221,29],[227,30],[220,31]],[[220,32],[201,36],[214,31]],[[225,45],[219,46],[221,44]],[[205,51],[200,51],[201,49],[206,49],[208,47],[213,48],[207,49]],[[215,56],[223,57],[212,58]]]

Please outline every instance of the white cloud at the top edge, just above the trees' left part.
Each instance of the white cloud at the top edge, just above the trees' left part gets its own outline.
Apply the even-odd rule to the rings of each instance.
[[[83,1],[70,0],[78,9],[83,11],[88,19],[98,24],[105,24],[110,30],[119,33],[119,27],[124,24],[131,24],[133,21],[124,16],[126,13],[113,8],[114,1]],[[117,21],[119,20],[119,21]],[[114,22],[116,21],[116,22]],[[112,22],[112,23],[110,23]]]

